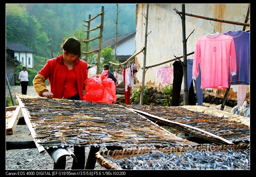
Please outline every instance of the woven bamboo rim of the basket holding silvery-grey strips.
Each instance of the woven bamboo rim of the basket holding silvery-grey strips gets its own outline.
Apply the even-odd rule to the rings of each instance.
[[[150,150],[159,150],[166,154],[174,153],[176,155],[180,155],[186,151],[195,149],[195,150],[202,150],[206,149],[210,152],[213,150],[220,150],[221,152],[227,152],[226,149],[233,150],[246,150],[250,148],[250,145],[220,145],[220,146],[196,146],[196,147],[172,147],[172,148],[142,148],[142,149],[124,149],[124,150],[107,150],[107,151],[99,151],[95,154],[97,162],[104,168],[108,170],[124,170],[119,167],[115,162],[107,160],[104,156],[111,157],[116,160],[123,159],[125,157],[135,157],[139,155],[144,155],[148,153]]]

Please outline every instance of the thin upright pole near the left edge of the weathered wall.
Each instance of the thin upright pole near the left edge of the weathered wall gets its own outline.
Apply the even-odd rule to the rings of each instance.
[[[143,71],[142,71],[142,86],[140,91],[140,105],[143,104],[143,94],[144,94],[144,82],[145,82],[145,66],[146,66],[146,53],[147,53],[147,23],[148,23],[148,4],[147,4],[147,14],[146,14],[146,26],[145,26],[145,50],[143,59]]]

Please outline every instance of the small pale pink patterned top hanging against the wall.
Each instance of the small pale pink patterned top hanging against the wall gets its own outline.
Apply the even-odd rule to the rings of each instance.
[[[156,72],[156,81],[158,81],[158,76],[161,75],[162,84],[168,83],[171,84],[171,76],[173,75],[173,67],[170,66],[162,66],[158,68]]]

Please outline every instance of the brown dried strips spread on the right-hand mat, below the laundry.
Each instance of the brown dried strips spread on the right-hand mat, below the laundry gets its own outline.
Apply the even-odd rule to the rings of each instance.
[[[209,111],[207,111],[208,113],[204,113],[204,111],[195,109],[197,107],[202,109],[202,106],[194,106],[194,110],[187,109],[188,107],[186,106],[163,107],[151,105],[126,105],[126,107],[147,112],[166,120],[199,128],[233,143],[250,142],[250,127],[248,125],[228,119],[227,116],[220,117],[218,116],[220,114],[219,112],[214,115],[214,110],[212,110],[212,113],[209,113]],[[206,110],[207,109],[205,109],[205,111]],[[180,130],[180,127],[174,124],[171,126]],[[186,131],[188,131],[186,133],[193,135],[193,130],[187,129]],[[207,140],[209,137],[205,136],[201,138]]]

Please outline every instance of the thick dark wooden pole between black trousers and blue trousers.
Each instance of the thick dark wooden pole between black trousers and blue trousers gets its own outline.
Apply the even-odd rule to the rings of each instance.
[[[186,24],[185,24],[185,4],[182,4],[182,42],[183,42],[183,79],[184,79],[184,100],[183,105],[189,105],[188,96],[188,75],[187,75],[187,63],[186,63]]]

